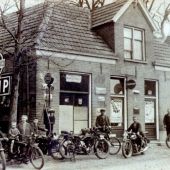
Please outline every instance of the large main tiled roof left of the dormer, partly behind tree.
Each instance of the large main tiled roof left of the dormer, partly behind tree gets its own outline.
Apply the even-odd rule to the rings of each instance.
[[[89,10],[65,3],[48,5],[26,9],[23,47],[113,59],[114,52],[90,29]],[[15,28],[16,23],[16,13],[8,15],[9,27]],[[0,52],[4,44],[7,44],[7,50],[14,50],[11,36],[0,27]]]

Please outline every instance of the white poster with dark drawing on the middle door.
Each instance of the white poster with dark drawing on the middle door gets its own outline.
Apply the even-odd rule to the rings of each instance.
[[[110,121],[112,123],[122,123],[122,107],[123,100],[122,99],[112,99],[110,103]]]

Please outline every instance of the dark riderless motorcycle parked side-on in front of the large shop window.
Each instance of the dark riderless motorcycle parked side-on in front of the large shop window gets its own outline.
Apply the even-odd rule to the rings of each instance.
[[[109,154],[109,143],[98,129],[82,129],[81,134],[68,133],[63,140],[60,153],[64,158],[75,158],[77,155],[89,155],[94,151],[99,159],[105,159]]]

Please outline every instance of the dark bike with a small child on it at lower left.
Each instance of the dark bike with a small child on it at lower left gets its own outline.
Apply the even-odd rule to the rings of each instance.
[[[14,140],[12,152],[10,140],[2,143],[7,161],[14,160],[17,164],[30,161],[35,169],[41,169],[44,166],[44,156],[38,144],[35,143],[35,137],[24,136],[24,140],[21,140],[22,138],[23,136],[20,135],[19,138],[17,136],[12,139]]]

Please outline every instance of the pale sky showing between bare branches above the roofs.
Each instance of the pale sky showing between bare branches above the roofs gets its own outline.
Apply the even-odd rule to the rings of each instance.
[[[9,2],[9,4],[14,5],[14,0],[0,0],[0,1],[1,1],[0,7],[2,7],[5,2]],[[41,3],[44,0],[25,0],[25,1],[26,1],[26,7],[29,7],[29,6]],[[58,0],[56,0],[56,1],[58,1]],[[113,1],[115,1],[115,0],[105,0],[106,3],[111,3]],[[160,16],[161,16],[160,14],[163,13],[167,4],[170,4],[170,0],[155,0],[151,15],[156,14],[155,15],[156,18],[160,18]],[[11,11],[13,11],[13,8],[11,8],[9,10],[9,12],[11,12]],[[169,17],[169,19],[170,19],[170,17]],[[164,32],[166,35],[170,35],[170,22],[165,22]]]

